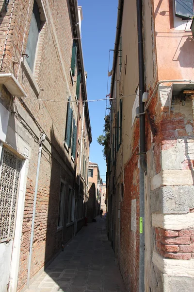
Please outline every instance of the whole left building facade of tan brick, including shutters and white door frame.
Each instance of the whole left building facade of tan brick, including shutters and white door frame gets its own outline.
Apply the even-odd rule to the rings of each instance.
[[[16,78],[15,84],[17,82],[26,93],[26,97],[11,96],[6,84],[2,82],[0,102],[10,113],[6,139],[1,145],[5,148],[9,147],[16,156],[19,155],[26,169],[23,168],[21,173],[20,181],[23,184],[18,195],[18,200],[22,200],[23,204],[23,209],[21,208],[20,213],[17,212],[16,217],[16,228],[20,233],[17,234],[17,239],[13,237],[14,246],[17,247],[13,255],[17,260],[9,267],[11,280],[6,284],[10,287],[10,292],[22,291],[27,284],[41,133],[46,135],[46,140],[42,144],[38,180],[31,279],[57,255],[62,243],[65,245],[81,229],[88,200],[87,174],[83,175],[83,155],[84,169],[87,173],[92,137],[87,102],[83,111],[87,92],[80,27],[77,25],[79,19],[77,1],[36,1],[41,25],[34,69],[31,72],[27,58],[23,54],[26,54],[33,3],[34,1],[30,0],[10,0],[6,12],[4,1],[0,1],[2,61],[0,78],[3,73],[12,73]],[[77,44],[74,76],[70,72],[73,39]],[[81,72],[81,90],[80,96],[77,96],[80,102],[76,102],[78,71]],[[12,93],[12,95],[17,94]],[[77,127],[75,158],[72,156],[73,143],[75,143],[73,137],[70,147],[65,143],[69,96],[71,96],[72,120],[75,120]],[[63,225],[59,226],[61,183],[64,184],[65,199],[61,214]],[[22,192],[25,194],[23,197]],[[71,201],[70,205],[69,201]],[[71,212],[70,217],[68,217],[69,212]]]

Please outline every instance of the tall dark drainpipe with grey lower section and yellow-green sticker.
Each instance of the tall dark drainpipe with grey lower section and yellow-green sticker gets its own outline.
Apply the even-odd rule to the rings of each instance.
[[[138,63],[139,63],[139,109],[144,112],[142,95],[145,91],[144,84],[144,44],[142,25],[142,0],[136,1],[137,5],[137,34],[138,34]],[[145,115],[140,115],[140,254],[139,254],[139,292],[144,292],[145,270],[145,210],[144,210],[144,172],[146,172],[146,127]]]

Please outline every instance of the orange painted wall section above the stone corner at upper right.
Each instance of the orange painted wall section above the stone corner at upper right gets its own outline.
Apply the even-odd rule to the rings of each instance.
[[[175,18],[173,10],[173,0],[154,0],[158,79],[192,79],[194,38],[191,31],[176,28],[176,19],[184,22]]]

